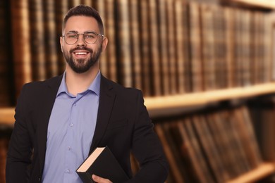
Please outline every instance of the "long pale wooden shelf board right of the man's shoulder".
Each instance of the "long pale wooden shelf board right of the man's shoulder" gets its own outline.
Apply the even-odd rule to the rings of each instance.
[[[209,103],[230,99],[243,99],[262,94],[275,94],[275,82],[257,84],[247,87],[236,87],[232,89],[218,89],[209,92],[197,92],[173,96],[145,97],[145,106],[150,115],[157,115],[169,111],[172,108],[186,108],[194,106],[205,106]]]

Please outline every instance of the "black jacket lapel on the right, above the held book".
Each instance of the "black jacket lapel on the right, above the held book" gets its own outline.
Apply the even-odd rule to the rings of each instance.
[[[94,130],[90,153],[92,153],[92,151],[98,146],[104,132],[106,131],[115,98],[116,94],[112,91],[111,82],[102,76],[100,84],[99,108],[97,113],[97,125]]]

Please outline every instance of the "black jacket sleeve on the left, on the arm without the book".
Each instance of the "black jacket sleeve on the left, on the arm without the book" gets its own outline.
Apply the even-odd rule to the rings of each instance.
[[[21,90],[16,106],[16,122],[11,134],[11,141],[8,146],[6,159],[6,182],[27,182],[28,166],[31,163],[32,143],[27,130],[27,114],[25,99],[25,88]]]

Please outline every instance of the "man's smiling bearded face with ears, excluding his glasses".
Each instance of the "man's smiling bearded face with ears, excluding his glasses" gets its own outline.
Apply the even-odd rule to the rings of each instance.
[[[63,56],[74,72],[83,73],[92,67],[99,67],[98,61],[102,50],[105,49],[104,38],[98,36],[97,42],[87,44],[83,38],[84,32],[97,32],[100,34],[97,20],[87,16],[72,16],[68,19],[63,30],[63,35],[67,32],[77,32],[78,41],[75,44],[67,44],[61,37],[61,50]]]

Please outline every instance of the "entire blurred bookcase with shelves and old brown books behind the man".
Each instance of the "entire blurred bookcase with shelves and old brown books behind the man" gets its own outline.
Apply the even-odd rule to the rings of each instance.
[[[104,20],[109,45],[101,72],[145,95],[171,166],[167,182],[274,175],[275,158],[262,158],[274,149],[261,151],[274,145],[261,144],[268,137],[258,139],[258,110],[247,104],[275,94],[275,4],[263,0],[1,1],[1,175],[20,89],[63,72],[61,22],[77,4],[94,6]]]

